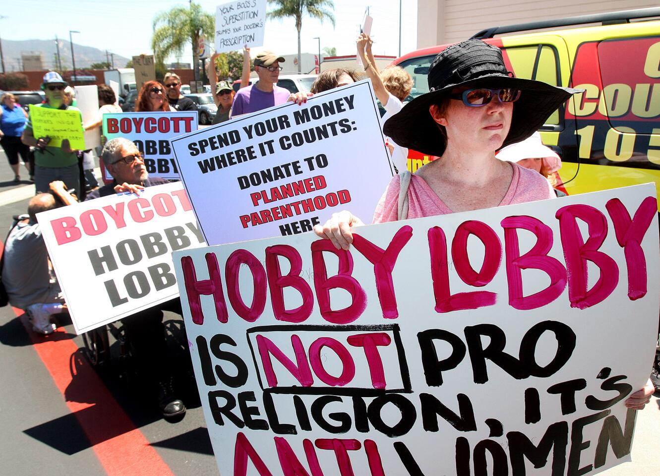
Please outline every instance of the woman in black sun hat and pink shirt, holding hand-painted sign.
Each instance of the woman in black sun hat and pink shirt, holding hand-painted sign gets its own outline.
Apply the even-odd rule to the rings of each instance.
[[[449,46],[431,64],[430,92],[387,119],[383,132],[401,147],[439,156],[415,174],[392,178],[374,223],[431,217],[554,198],[535,170],[496,158],[506,145],[531,136],[580,90],[518,79],[507,71],[502,51],[481,40]],[[349,211],[333,213],[314,231],[348,250],[351,227],[364,224]],[[633,393],[626,406],[641,409],[653,384]]]

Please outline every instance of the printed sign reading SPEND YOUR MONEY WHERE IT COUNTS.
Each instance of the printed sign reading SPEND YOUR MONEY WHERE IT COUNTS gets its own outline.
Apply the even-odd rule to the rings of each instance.
[[[370,219],[393,174],[368,81],[179,137],[172,151],[209,244],[310,231],[346,207]]]

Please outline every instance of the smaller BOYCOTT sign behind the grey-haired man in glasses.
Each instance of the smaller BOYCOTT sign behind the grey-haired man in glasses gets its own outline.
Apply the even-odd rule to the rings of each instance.
[[[149,176],[178,179],[170,139],[197,130],[197,111],[123,112],[103,115],[106,139],[123,137],[135,143],[145,159]],[[103,164],[106,180],[112,180]]]

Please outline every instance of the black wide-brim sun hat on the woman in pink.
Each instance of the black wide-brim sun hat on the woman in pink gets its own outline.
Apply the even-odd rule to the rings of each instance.
[[[520,98],[513,103],[511,127],[501,147],[527,139],[572,94],[582,91],[515,78],[507,71],[500,48],[482,40],[467,40],[449,46],[435,57],[428,71],[430,92],[417,96],[387,119],[383,132],[401,147],[441,156],[446,141],[428,108],[440,104],[457,86],[521,90]]]

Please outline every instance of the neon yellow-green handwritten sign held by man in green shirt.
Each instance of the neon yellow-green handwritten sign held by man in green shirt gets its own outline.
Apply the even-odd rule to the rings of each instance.
[[[69,139],[71,149],[85,148],[80,111],[42,108],[30,104],[30,120],[34,137],[50,137],[48,145],[60,147],[63,139]]]

